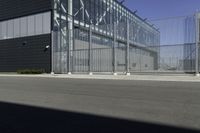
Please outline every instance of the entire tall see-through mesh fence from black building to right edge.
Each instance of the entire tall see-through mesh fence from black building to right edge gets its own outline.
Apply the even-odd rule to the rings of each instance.
[[[109,14],[105,11],[95,16],[88,12],[88,3],[82,2],[75,4],[77,10],[74,16],[69,16],[62,6],[65,2],[55,1],[52,33],[55,73],[199,70],[199,14],[148,22],[120,14],[111,3],[102,1]],[[82,11],[84,4],[86,9]]]

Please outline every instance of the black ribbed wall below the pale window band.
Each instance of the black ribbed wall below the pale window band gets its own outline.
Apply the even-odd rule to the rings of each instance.
[[[50,34],[0,41],[0,72],[19,69],[45,69],[50,72]]]

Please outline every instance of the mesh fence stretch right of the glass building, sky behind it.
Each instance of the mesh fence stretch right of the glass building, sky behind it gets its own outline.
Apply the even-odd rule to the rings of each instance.
[[[160,31],[158,71],[197,73],[199,71],[199,13],[151,22]]]

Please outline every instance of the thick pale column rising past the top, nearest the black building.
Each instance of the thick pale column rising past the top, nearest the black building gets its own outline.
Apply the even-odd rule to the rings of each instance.
[[[68,40],[68,74],[71,73],[71,50],[72,50],[72,45],[73,45],[73,0],[68,0],[68,30],[69,30],[69,40]]]

